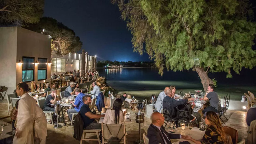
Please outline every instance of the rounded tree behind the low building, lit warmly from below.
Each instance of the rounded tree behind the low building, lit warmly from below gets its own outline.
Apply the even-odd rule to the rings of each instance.
[[[51,49],[57,55],[67,55],[80,51],[82,42],[75,32],[51,17],[42,17],[38,24],[29,25],[28,29],[52,37]]]

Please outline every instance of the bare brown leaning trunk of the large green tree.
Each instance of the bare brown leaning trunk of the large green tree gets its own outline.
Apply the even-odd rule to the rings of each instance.
[[[212,80],[208,77],[207,72],[204,71],[203,68],[195,67],[195,69],[201,79],[204,91],[207,90],[209,84],[213,84]]]

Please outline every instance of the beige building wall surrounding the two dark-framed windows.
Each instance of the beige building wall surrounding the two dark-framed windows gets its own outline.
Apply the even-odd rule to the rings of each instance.
[[[33,32],[24,28],[17,28],[17,61],[23,57],[47,58],[51,61],[51,38],[48,35]],[[16,82],[22,81],[22,65],[17,64]],[[38,82],[38,64],[34,64],[34,81]],[[47,78],[51,78],[51,64],[47,64]],[[28,83],[30,84],[30,83]]]

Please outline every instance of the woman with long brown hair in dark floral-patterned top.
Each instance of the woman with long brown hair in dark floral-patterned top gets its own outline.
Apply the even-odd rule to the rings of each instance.
[[[187,136],[186,140],[193,141],[196,144],[227,143],[226,133],[224,132],[221,121],[215,112],[206,113],[205,124],[209,127],[206,129],[201,141],[195,140],[191,138],[191,136]]]

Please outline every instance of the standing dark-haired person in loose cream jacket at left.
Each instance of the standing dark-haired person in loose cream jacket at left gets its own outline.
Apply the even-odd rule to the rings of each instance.
[[[17,127],[13,144],[34,144],[33,131],[35,136],[42,138],[40,144],[45,144],[47,136],[46,118],[43,111],[35,102],[35,99],[28,95],[28,85],[20,83],[17,85],[16,93],[22,96],[19,100]],[[35,123],[35,127],[33,124]],[[39,136],[40,135],[40,136]]]

